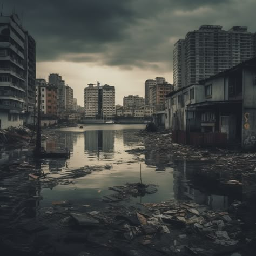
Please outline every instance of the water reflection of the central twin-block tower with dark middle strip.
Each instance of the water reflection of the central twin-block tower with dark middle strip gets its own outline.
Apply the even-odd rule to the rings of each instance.
[[[86,131],[84,150],[89,152],[113,152],[114,130]]]

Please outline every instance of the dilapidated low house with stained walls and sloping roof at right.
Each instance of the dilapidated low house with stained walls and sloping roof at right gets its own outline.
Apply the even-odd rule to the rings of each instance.
[[[169,93],[165,113],[165,127],[182,143],[255,149],[256,58]]]

